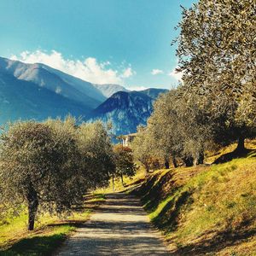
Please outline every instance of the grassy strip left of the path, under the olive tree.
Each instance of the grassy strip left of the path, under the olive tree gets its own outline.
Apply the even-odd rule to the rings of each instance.
[[[86,221],[104,195],[90,196],[84,209],[67,218],[44,214],[36,222],[34,231],[26,230],[27,214],[0,219],[0,255],[50,255],[70,236],[78,224]]]

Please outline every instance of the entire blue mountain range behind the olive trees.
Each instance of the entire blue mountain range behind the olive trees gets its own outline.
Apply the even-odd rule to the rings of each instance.
[[[91,84],[41,63],[0,57],[0,124],[16,119],[101,119],[116,135],[145,125],[153,102],[167,90],[130,91],[119,84]]]

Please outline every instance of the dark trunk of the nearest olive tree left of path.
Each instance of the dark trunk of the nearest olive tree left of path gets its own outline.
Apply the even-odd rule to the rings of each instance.
[[[34,230],[35,218],[38,212],[38,195],[36,190],[33,188],[32,184],[30,185],[28,194],[28,230]]]

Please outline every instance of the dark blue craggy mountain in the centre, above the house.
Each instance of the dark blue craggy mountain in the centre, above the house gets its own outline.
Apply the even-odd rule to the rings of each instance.
[[[153,111],[153,102],[160,93],[167,90],[150,89],[142,91],[119,91],[109,97],[92,113],[90,121],[101,119],[112,122],[115,135],[137,131],[137,125],[146,125]]]

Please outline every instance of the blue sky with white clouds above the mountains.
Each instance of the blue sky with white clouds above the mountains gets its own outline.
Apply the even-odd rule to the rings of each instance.
[[[0,0],[0,56],[132,90],[178,84],[175,26],[196,0]]]

